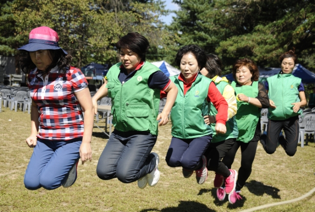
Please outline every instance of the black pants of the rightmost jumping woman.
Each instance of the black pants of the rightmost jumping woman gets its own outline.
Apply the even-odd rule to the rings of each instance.
[[[279,134],[284,130],[285,138]],[[286,151],[287,155],[293,156],[296,152],[298,142],[298,116],[286,120],[268,120],[267,135],[261,136],[261,144],[268,154],[273,154],[279,143]]]

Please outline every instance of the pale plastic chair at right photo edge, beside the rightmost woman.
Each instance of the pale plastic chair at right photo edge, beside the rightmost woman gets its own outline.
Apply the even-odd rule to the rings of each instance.
[[[301,142],[301,147],[304,147],[304,135],[315,133],[315,112],[306,113],[299,125],[298,142]]]

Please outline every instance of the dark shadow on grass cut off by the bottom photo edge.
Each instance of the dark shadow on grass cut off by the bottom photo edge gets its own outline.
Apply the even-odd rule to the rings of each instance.
[[[141,212],[215,212],[208,208],[206,205],[195,201],[180,201],[177,207],[168,207],[162,210],[157,209],[144,209]]]

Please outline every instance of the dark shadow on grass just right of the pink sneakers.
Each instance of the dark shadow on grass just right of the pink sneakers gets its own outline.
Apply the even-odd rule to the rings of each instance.
[[[245,186],[247,189],[255,194],[256,196],[262,196],[264,193],[272,196],[274,199],[281,199],[278,192],[280,191],[277,188],[274,188],[272,186],[264,185],[261,182],[258,182],[256,180],[251,180],[250,182],[246,183]]]

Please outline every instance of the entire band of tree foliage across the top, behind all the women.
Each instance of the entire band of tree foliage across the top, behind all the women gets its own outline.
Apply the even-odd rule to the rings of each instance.
[[[17,55],[32,28],[47,25],[72,51],[73,65],[118,62],[115,43],[137,31],[149,40],[148,61],[174,64],[176,51],[195,43],[218,54],[231,71],[235,60],[278,67],[281,53],[295,48],[298,63],[315,70],[314,0],[173,0],[170,25],[162,0],[0,0],[0,55]]]

